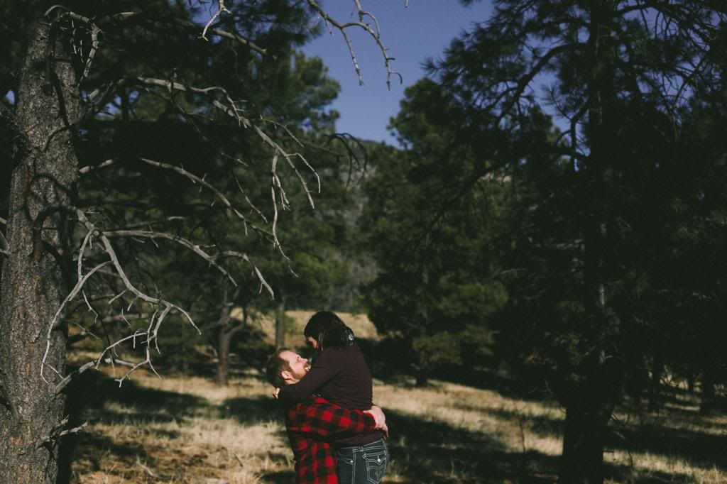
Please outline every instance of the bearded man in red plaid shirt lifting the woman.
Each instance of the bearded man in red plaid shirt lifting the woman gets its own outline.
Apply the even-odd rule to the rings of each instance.
[[[267,373],[276,388],[300,381],[308,360],[281,348],[268,360]],[[337,462],[329,438],[382,429],[387,432],[381,408],[348,410],[314,397],[286,408],[285,426],[295,457],[296,484],[338,484]]]

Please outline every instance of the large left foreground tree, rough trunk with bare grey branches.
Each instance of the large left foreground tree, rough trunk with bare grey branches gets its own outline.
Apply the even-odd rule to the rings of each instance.
[[[0,103],[0,126],[12,132],[15,140],[9,213],[0,217],[0,229],[4,229],[0,230],[0,438],[4,443],[0,451],[0,482],[55,483],[59,441],[63,435],[83,427],[68,428],[68,419],[63,418],[64,391],[73,376],[111,364],[124,368],[117,378],[122,384],[137,368],[155,371],[153,355],[159,351],[158,334],[164,320],[176,314],[196,327],[185,307],[165,299],[162,289],[141,283],[129,271],[127,263],[132,256],[124,254],[124,240],[133,238],[155,245],[164,241],[181,246],[219,271],[233,286],[237,284],[236,275],[228,270],[225,261],[241,260],[257,278],[260,290],[273,296],[273,288],[257,269],[254,257],[248,254],[203,247],[157,221],[111,221],[93,204],[77,203],[82,195],[77,193],[79,178],[130,162],[199,187],[232,219],[278,248],[279,215],[289,208],[281,171],[287,170],[300,183],[314,206],[317,174],[300,153],[300,140],[287,129],[284,120],[266,118],[264,110],[249,108],[245,99],[233,97],[227,87],[189,84],[174,75],[162,78],[134,72],[121,73],[119,78],[99,85],[89,84],[97,63],[103,62],[103,58],[99,59],[108,48],[107,39],[143,39],[140,32],[145,31],[186,35],[207,42],[209,49],[216,49],[224,41],[228,46],[253,52],[257,60],[264,59],[268,55],[265,47],[237,30],[232,3],[218,1],[217,11],[205,25],[193,23],[190,15],[174,17],[182,8],[181,3],[174,10],[174,6],[160,2],[157,7],[169,7],[169,15],[158,17],[158,9],[126,2],[111,7],[92,4],[82,12],[74,11],[76,4],[71,2],[49,4],[34,0],[12,7],[17,9],[17,17],[22,18],[25,48],[22,68],[17,73],[20,80],[15,105],[7,108]],[[236,6],[244,4],[236,2]],[[389,68],[390,57],[378,27],[366,23],[376,23],[375,19],[364,11],[360,0],[353,4],[361,21],[353,23],[335,21],[315,0],[307,0],[307,4],[309,12],[321,15],[326,25],[344,33],[354,65],[356,57],[346,31],[361,28],[381,48],[390,75],[395,74]],[[79,168],[80,126],[101,116],[128,89],[153,93],[177,109],[179,116],[192,118],[195,113],[185,111],[184,103],[179,102],[180,97],[187,96],[204,105],[209,116],[228,118],[240,132],[257,137],[270,156],[267,180],[272,216],[265,217],[246,198],[243,187],[239,193],[224,193],[207,182],[204,173],[190,172],[181,164],[144,157],[108,158]],[[313,186],[309,186],[303,172],[312,174]],[[282,249],[281,257],[285,257]],[[105,315],[97,310],[98,304],[105,305]],[[129,325],[129,331],[121,338],[108,338],[97,358],[69,374],[65,367],[67,317],[69,310],[81,308],[93,319],[88,327],[80,328],[83,334],[93,334],[105,318],[115,317],[113,312],[124,321],[126,312],[147,314],[148,319],[143,328],[132,330]],[[126,344],[140,349],[140,358],[121,358],[117,350]]]

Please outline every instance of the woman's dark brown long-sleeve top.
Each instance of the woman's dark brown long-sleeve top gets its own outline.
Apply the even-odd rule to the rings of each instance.
[[[358,346],[327,348],[313,362],[300,382],[281,388],[278,398],[286,405],[298,403],[313,393],[348,409],[369,410],[373,399],[371,371]],[[332,440],[336,446],[364,445],[379,440],[379,430]]]

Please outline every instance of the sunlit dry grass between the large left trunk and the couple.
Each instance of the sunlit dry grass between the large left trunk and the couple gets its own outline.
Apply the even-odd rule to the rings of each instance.
[[[87,435],[81,437],[73,465],[75,482],[161,479],[201,483],[217,479],[230,484],[259,483],[262,473],[292,468],[281,421],[271,418],[245,423],[229,415],[230,400],[267,398],[270,389],[262,382],[241,379],[220,388],[204,379],[160,381],[140,373],[134,384],[169,395],[204,398],[204,404],[175,416],[169,408],[105,401],[98,410],[99,419],[89,424]]]

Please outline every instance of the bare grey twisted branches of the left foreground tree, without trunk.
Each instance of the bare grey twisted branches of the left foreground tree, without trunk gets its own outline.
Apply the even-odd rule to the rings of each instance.
[[[363,84],[363,78],[361,76],[361,69],[358,66],[358,61],[356,60],[356,54],[353,50],[353,44],[349,37],[349,29],[361,29],[374,39],[385,60],[385,66],[387,69],[387,85],[389,87],[392,76],[398,76],[399,80],[402,80],[401,75],[391,68],[390,62],[393,60],[393,57],[388,55],[388,51],[382,42],[377,18],[374,17],[374,15],[371,15],[371,12],[364,10],[360,0],[354,0],[354,4],[358,11],[358,22],[351,23],[339,23],[337,20],[334,20],[332,17],[327,15],[326,12],[324,12],[324,10],[319,6],[317,0],[306,1],[308,2],[308,5],[318,13],[318,15],[321,15],[321,17],[325,20],[326,25],[329,25],[329,28],[332,26],[342,32],[361,84]],[[406,2],[406,5],[408,5],[408,1]],[[220,21],[223,15],[231,13],[230,9],[225,6],[225,0],[217,0],[217,11],[214,12],[214,15],[212,15],[206,25],[204,25],[204,28],[201,28],[201,25],[196,23],[178,18],[166,19],[167,22],[165,25],[178,25],[185,29],[201,28],[200,38],[204,39],[204,41],[209,41],[210,37],[217,36],[220,39],[227,39],[234,43],[242,44],[260,55],[265,55],[267,53],[266,49],[258,47],[252,43],[252,41],[245,39],[244,36],[233,31],[223,31],[214,28],[214,24]],[[81,60],[81,70],[83,72],[79,78],[79,83],[89,76],[95,56],[101,48],[102,41],[104,43],[106,42],[105,37],[103,36],[104,31],[111,31],[113,28],[118,28],[118,25],[116,25],[115,22],[138,19],[138,25],[142,28],[153,28],[151,23],[145,23],[146,20],[143,18],[143,12],[119,12],[100,18],[85,17],[84,15],[72,12],[70,9],[61,5],[54,5],[47,9],[46,16],[52,17],[51,21],[53,23],[57,23],[57,28],[68,31],[70,35],[71,49],[80,57]],[[226,21],[227,19],[225,19],[225,22]],[[137,24],[134,23],[134,25]],[[165,25],[161,25],[160,28],[166,28]],[[176,30],[179,29],[176,28]],[[96,58],[100,59],[100,56]],[[175,108],[179,109],[183,114],[190,116],[191,118],[199,115],[196,113],[186,112],[185,106],[175,102],[174,97],[182,97],[179,93],[183,92],[186,93],[184,97],[194,97],[196,100],[201,99],[206,106],[214,106],[214,110],[217,110],[212,110],[211,118],[214,118],[215,120],[218,118],[225,118],[226,120],[229,120],[230,118],[233,119],[234,123],[236,123],[239,128],[252,129],[254,136],[260,138],[263,144],[270,148],[272,151],[272,160],[270,162],[270,193],[274,212],[270,221],[268,221],[268,217],[265,217],[265,214],[263,214],[260,209],[257,209],[257,207],[254,206],[243,190],[240,180],[235,177],[238,189],[244,196],[245,202],[251,207],[252,211],[254,211],[257,216],[265,222],[265,224],[271,225],[272,228],[270,230],[268,230],[269,227],[261,227],[249,220],[249,218],[242,213],[241,209],[238,209],[233,201],[230,200],[225,193],[222,193],[222,190],[219,190],[217,187],[212,185],[212,183],[207,182],[204,176],[198,177],[196,174],[189,172],[181,166],[174,166],[173,164],[162,163],[148,158],[137,158],[136,161],[141,164],[153,166],[156,169],[176,172],[177,174],[182,175],[182,177],[190,180],[193,184],[209,190],[212,192],[214,201],[220,201],[221,205],[225,209],[229,210],[235,217],[244,222],[246,229],[247,226],[250,225],[253,230],[257,231],[257,233],[264,235],[268,240],[271,239],[273,241],[273,246],[276,246],[283,257],[287,259],[281,248],[281,244],[278,241],[277,224],[279,211],[290,209],[291,203],[289,196],[286,193],[286,186],[284,186],[284,180],[286,183],[287,180],[281,173],[278,172],[278,161],[280,161],[281,164],[287,164],[289,169],[292,170],[294,176],[297,177],[297,182],[300,182],[302,190],[305,191],[308,203],[310,203],[310,206],[313,209],[316,208],[313,200],[313,193],[316,191],[320,193],[321,191],[320,177],[318,176],[316,169],[314,169],[305,158],[302,150],[297,148],[304,147],[304,144],[296,137],[292,130],[285,124],[265,119],[257,114],[252,115],[248,108],[249,104],[247,104],[244,100],[234,100],[230,95],[230,92],[225,89],[225,86],[198,87],[179,82],[175,78],[162,79],[145,76],[128,77],[115,81],[108,81],[104,86],[100,86],[90,94],[87,94],[85,97],[86,110],[81,114],[81,116],[79,116],[78,120],[68,121],[64,129],[71,129],[73,126],[76,126],[82,119],[89,116],[89,113],[92,113],[94,110],[96,110],[96,112],[100,112],[104,105],[113,101],[113,96],[119,91],[119,88],[123,89],[125,86],[132,86],[133,89],[137,89],[142,92],[150,92],[153,95],[164,97],[165,99],[169,97],[169,100]],[[209,110],[205,111],[205,113],[207,112],[209,112]],[[13,120],[14,116],[12,116],[12,110],[0,103],[0,124],[13,126]],[[226,121],[226,124],[233,123]],[[200,132],[200,134],[203,133]],[[212,141],[209,142],[214,144]],[[290,146],[293,146],[293,148],[289,149]],[[105,160],[96,166],[85,166],[81,168],[79,172],[81,175],[89,174],[96,170],[104,169],[118,163],[119,160],[112,158]],[[305,174],[306,176],[304,176],[303,172],[305,172],[305,170],[310,170],[310,172],[313,173],[313,176],[316,179],[316,186],[308,186],[310,178],[308,177],[308,174]],[[212,203],[214,203],[214,201]],[[243,206],[244,203],[242,203]],[[142,366],[148,367],[150,371],[157,374],[152,363],[152,348],[156,350],[157,353],[160,353],[158,347],[158,331],[164,323],[164,320],[170,314],[178,313],[181,315],[182,319],[187,320],[191,326],[200,332],[189,312],[182,309],[179,305],[174,304],[174,302],[163,299],[161,297],[161,291],[156,288],[147,288],[143,279],[142,282],[134,281],[132,283],[132,279],[129,278],[129,275],[132,275],[133,277],[134,273],[128,272],[127,274],[127,270],[130,270],[129,267],[124,267],[124,264],[116,254],[115,247],[111,243],[111,240],[114,238],[143,238],[152,241],[155,245],[155,241],[158,239],[172,241],[186,249],[189,249],[198,257],[201,257],[201,259],[205,260],[210,266],[214,267],[215,270],[222,273],[225,278],[228,278],[228,280],[235,286],[237,285],[235,278],[233,278],[230,270],[222,265],[222,261],[225,259],[240,259],[252,268],[254,276],[260,282],[260,291],[262,291],[262,289],[266,289],[271,297],[274,296],[273,289],[267,281],[265,281],[262,273],[258,267],[254,265],[247,254],[238,251],[218,251],[215,254],[213,253],[214,251],[203,248],[193,241],[188,240],[188,238],[164,232],[163,230],[154,230],[150,225],[148,228],[130,229],[129,227],[121,227],[116,230],[104,230],[104,227],[101,227],[100,223],[98,226],[95,225],[94,222],[89,220],[87,214],[84,214],[84,212],[79,209],[69,209],[69,207],[58,207],[57,209],[68,210],[85,230],[84,239],[75,256],[76,281],[75,283],[71,281],[71,283],[73,283],[73,288],[68,292],[68,295],[57,308],[53,318],[48,321],[47,332],[45,335],[47,339],[47,347],[41,361],[41,377],[44,381],[49,382],[49,379],[46,379],[47,375],[45,374],[45,370],[47,367],[50,367],[52,371],[59,376],[58,379],[55,379],[54,377],[55,391],[57,393],[63,392],[75,376],[87,371],[89,368],[98,368],[102,363],[111,364],[111,366],[114,367],[114,370],[116,365],[126,368],[125,373],[121,375],[119,379],[116,379],[116,381],[119,382],[119,385],[123,384],[124,380],[129,377],[130,374]],[[44,211],[41,214],[43,218],[39,218],[40,222],[39,224],[36,224],[40,227],[39,230],[42,228],[44,217],[47,216],[47,212]],[[107,216],[105,213],[102,215]],[[247,215],[249,216],[249,214]],[[252,217],[254,218],[255,216]],[[2,225],[7,225],[7,222],[4,219],[0,219],[0,223]],[[143,225],[140,227],[143,227]],[[9,254],[7,241],[2,233],[0,233],[0,254]],[[71,278],[73,278],[73,275],[71,275]],[[119,315],[106,315],[106,310],[97,307],[97,304],[92,304],[92,301],[95,299],[94,294],[97,292],[96,289],[99,281],[103,281],[104,284],[109,284],[113,287],[114,292],[111,294],[111,297],[105,298],[108,299],[108,305],[110,307],[118,307],[119,304],[123,304],[124,307],[126,307],[126,312],[132,310],[132,307],[136,305],[134,310],[137,310],[138,312],[133,313],[133,317],[145,320],[144,327],[135,329],[132,334],[119,337],[116,341],[112,341],[112,339],[108,336],[108,331],[106,331],[104,323],[123,320],[129,325],[129,328],[132,328],[132,324],[129,323],[129,318],[132,318],[132,315],[125,313],[124,308],[121,309],[121,313]],[[130,302],[129,299],[131,300]],[[60,374],[57,368],[53,368],[49,363],[49,350],[52,341],[52,331],[57,328],[60,324],[60,320],[65,317],[65,312],[68,311],[69,307],[72,307],[71,302],[73,302],[73,306],[75,306],[73,310],[78,310],[85,304],[88,312],[91,312],[92,315],[86,313],[80,320],[78,320],[78,322],[66,322],[75,324],[81,328],[81,337],[85,337],[87,334],[97,337],[81,325],[88,326],[89,328],[94,328],[99,324],[102,325],[104,332],[106,333],[106,346],[100,352],[98,358],[85,363],[76,371],[72,371],[70,374],[64,376]],[[104,316],[102,316],[102,314]],[[93,318],[92,323],[84,322],[84,320],[91,320],[91,318]],[[134,325],[133,327],[137,328],[138,326]],[[100,335],[103,336],[102,334]],[[140,349],[144,351],[145,354],[140,358],[140,360],[137,360],[137,358],[128,358],[130,361],[125,361],[118,358],[118,355],[116,354],[117,350],[121,350],[121,348],[125,347],[127,344],[132,346],[134,349],[136,349],[138,345]],[[76,429],[64,430],[63,427],[67,423],[68,421],[66,419],[62,422],[60,427],[53,429],[52,432],[49,433],[48,437],[39,445],[55,445],[55,441],[59,437],[67,435],[68,433],[78,432],[84,427],[81,426],[76,427]]]

